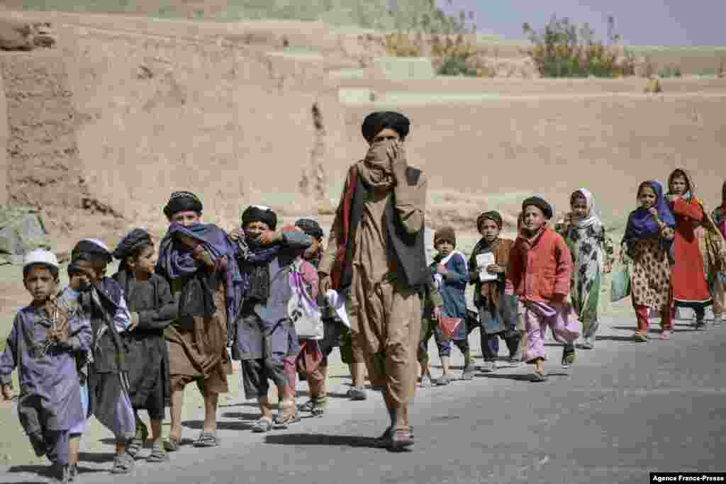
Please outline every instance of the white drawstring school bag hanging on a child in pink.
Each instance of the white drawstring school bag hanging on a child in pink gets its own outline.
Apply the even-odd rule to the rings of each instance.
[[[287,316],[295,325],[295,333],[302,340],[322,340],[325,327],[322,312],[316,300],[310,297],[301,271],[303,261],[296,260],[290,266],[290,289],[292,297],[287,302]]]

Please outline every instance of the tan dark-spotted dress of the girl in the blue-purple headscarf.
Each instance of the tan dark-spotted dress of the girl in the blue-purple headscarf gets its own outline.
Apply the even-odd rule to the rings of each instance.
[[[661,310],[670,302],[671,268],[668,253],[658,238],[635,239],[629,250],[632,258],[630,287],[633,304]]]

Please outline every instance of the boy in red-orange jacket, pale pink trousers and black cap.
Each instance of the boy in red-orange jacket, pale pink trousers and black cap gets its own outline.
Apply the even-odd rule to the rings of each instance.
[[[523,227],[510,252],[505,294],[519,296],[527,332],[523,360],[534,364],[534,381],[547,380],[544,372],[544,333],[551,327],[566,342],[563,363],[574,362],[574,340],[579,322],[566,298],[570,292],[572,258],[564,239],[547,227],[552,206],[541,197],[522,202]]]

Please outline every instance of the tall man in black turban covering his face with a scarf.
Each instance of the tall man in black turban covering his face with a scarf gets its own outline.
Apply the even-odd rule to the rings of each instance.
[[[401,450],[413,443],[408,409],[417,379],[418,291],[430,277],[423,238],[427,179],[407,163],[404,115],[374,112],[361,131],[369,148],[348,171],[319,266],[320,289],[346,295],[354,361],[364,360],[391,417],[379,443]]]

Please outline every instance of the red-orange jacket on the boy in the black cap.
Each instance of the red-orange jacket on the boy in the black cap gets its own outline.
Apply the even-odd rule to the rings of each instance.
[[[509,295],[550,303],[570,293],[572,256],[565,239],[545,227],[534,240],[517,237],[507,266]]]

